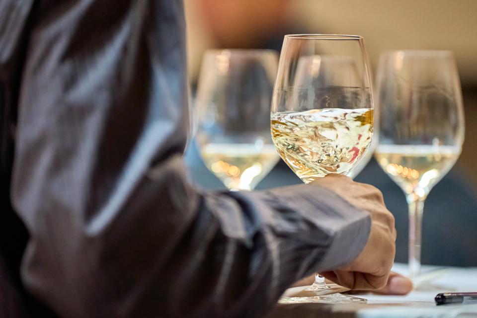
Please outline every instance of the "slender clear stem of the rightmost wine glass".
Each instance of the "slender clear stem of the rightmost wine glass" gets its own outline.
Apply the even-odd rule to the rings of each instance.
[[[425,196],[415,192],[407,196],[409,206],[409,277],[414,280],[421,270],[422,212]]]

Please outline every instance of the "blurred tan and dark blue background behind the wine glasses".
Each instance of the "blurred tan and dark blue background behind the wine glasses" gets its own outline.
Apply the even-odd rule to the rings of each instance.
[[[192,100],[203,53],[211,48],[279,51],[292,33],[358,34],[376,70],[393,49],[451,50],[464,95],[466,141],[454,168],[430,192],[423,219],[424,264],[477,266],[477,12],[476,0],[185,0]],[[193,108],[192,103],[192,108]],[[192,182],[225,189],[204,166],[191,140],[186,162]],[[356,178],[383,191],[396,217],[397,256],[407,262],[404,194],[372,159]],[[299,184],[280,161],[257,189]]]

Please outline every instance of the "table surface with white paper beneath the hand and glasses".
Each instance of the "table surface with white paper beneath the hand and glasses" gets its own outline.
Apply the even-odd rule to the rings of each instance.
[[[436,270],[423,266],[422,272]],[[404,264],[395,264],[393,270],[405,274]],[[477,267],[447,267],[440,276],[422,283],[406,296],[359,294],[367,304],[277,304],[267,318],[470,318],[477,317],[477,305],[436,306],[434,297],[443,292],[477,292]]]

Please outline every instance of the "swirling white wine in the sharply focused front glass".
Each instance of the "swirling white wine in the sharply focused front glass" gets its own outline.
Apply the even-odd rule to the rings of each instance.
[[[372,108],[324,108],[271,116],[281,158],[305,182],[329,173],[348,174],[373,136]]]

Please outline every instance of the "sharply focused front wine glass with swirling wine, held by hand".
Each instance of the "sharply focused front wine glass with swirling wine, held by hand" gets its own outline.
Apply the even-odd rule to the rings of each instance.
[[[304,181],[350,175],[371,143],[374,110],[361,36],[286,35],[272,98],[272,139],[280,157]],[[328,295],[316,275],[315,297],[290,302],[347,302]],[[359,299],[360,300],[360,299]]]

